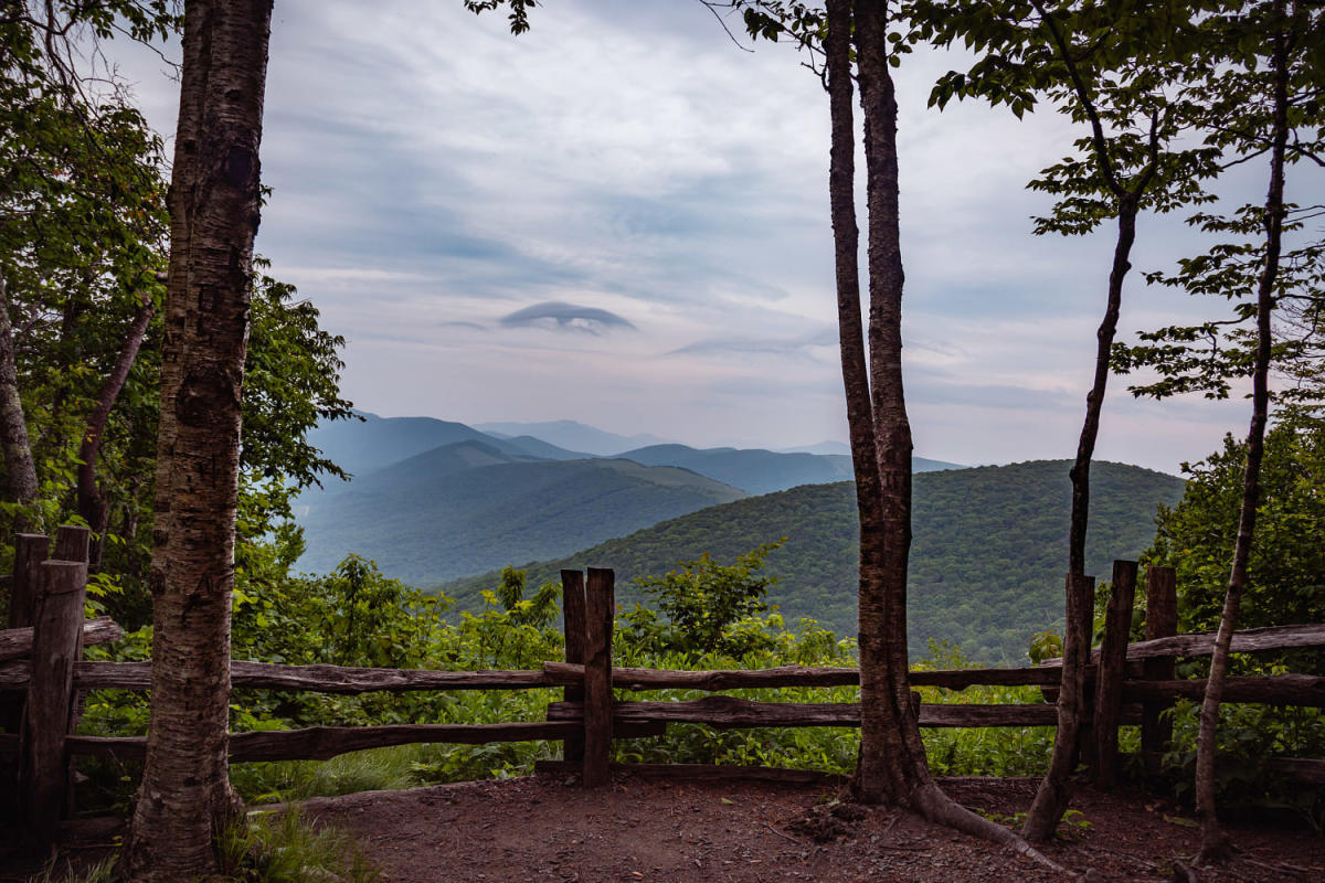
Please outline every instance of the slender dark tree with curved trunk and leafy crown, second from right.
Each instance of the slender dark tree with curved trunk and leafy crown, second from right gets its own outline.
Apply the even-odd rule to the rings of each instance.
[[[1084,155],[1043,169],[1030,185],[1059,197],[1051,214],[1036,220],[1035,233],[1080,236],[1106,221],[1117,225],[1105,310],[1096,331],[1094,372],[1069,473],[1063,688],[1053,757],[1026,821],[1026,834],[1035,842],[1053,835],[1067,809],[1068,776],[1085,720],[1093,610],[1085,573],[1090,462],[1137,218],[1146,209],[1167,212],[1207,200],[1202,179],[1218,171],[1218,150],[1204,144],[1174,147],[1191,127],[1183,103],[1169,97],[1196,42],[1183,12],[1149,0],[917,4],[926,37],[943,46],[965,40],[982,52],[969,71],[946,74],[930,103],[942,107],[954,97],[982,97],[994,105],[1006,103],[1020,116],[1044,97],[1073,122],[1086,126],[1089,134],[1075,144]]]

